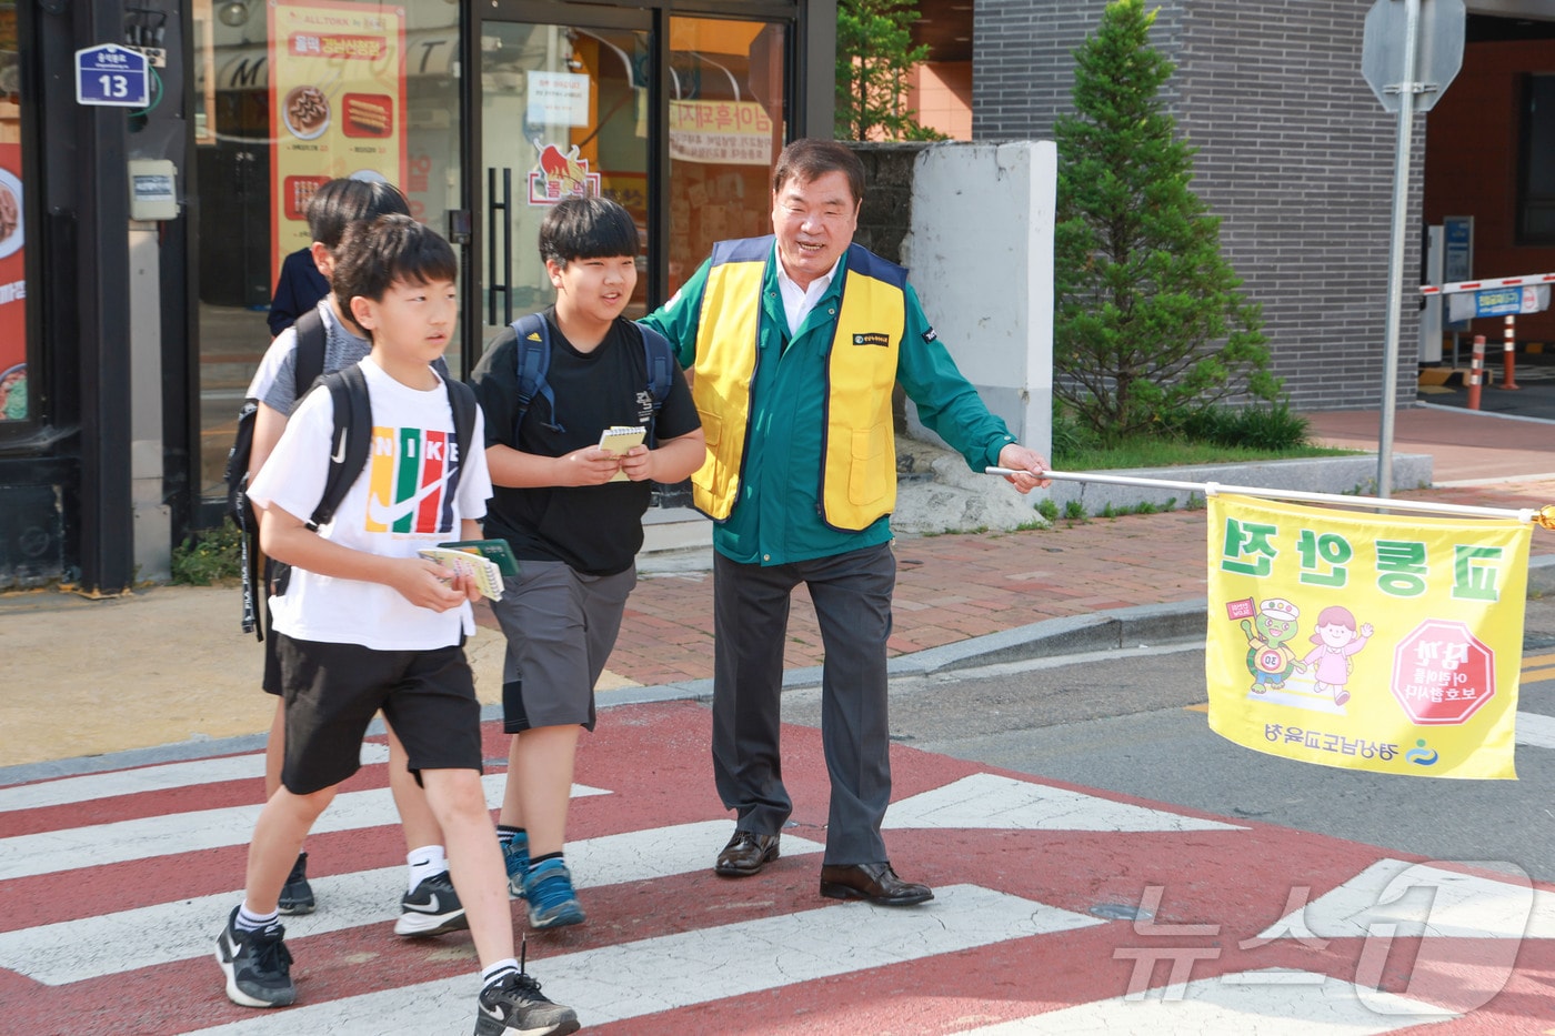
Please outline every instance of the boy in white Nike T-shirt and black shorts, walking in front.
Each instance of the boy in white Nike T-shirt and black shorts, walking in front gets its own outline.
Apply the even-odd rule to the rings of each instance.
[[[331,378],[359,375],[367,398],[345,398],[353,411],[367,404],[373,456],[336,518],[314,529],[305,515],[325,495],[331,456],[351,445],[336,440],[336,392],[311,392],[252,485],[266,554],[294,566],[275,600],[286,759],[281,787],[253,824],[244,899],[218,936],[216,960],[233,1002],[295,1000],[277,901],[383,709],[448,837],[482,968],[476,1034],[572,1033],[575,1013],[547,1000],[513,957],[502,857],[480,786],[480,703],[463,652],[477,591],[417,555],[479,537],[491,488],[484,451],[457,442],[456,400],[470,390],[431,366],[454,331],[457,268],[448,243],[409,216],[347,230],[333,285],[372,352]],[[471,426],[479,439],[479,415]]]

